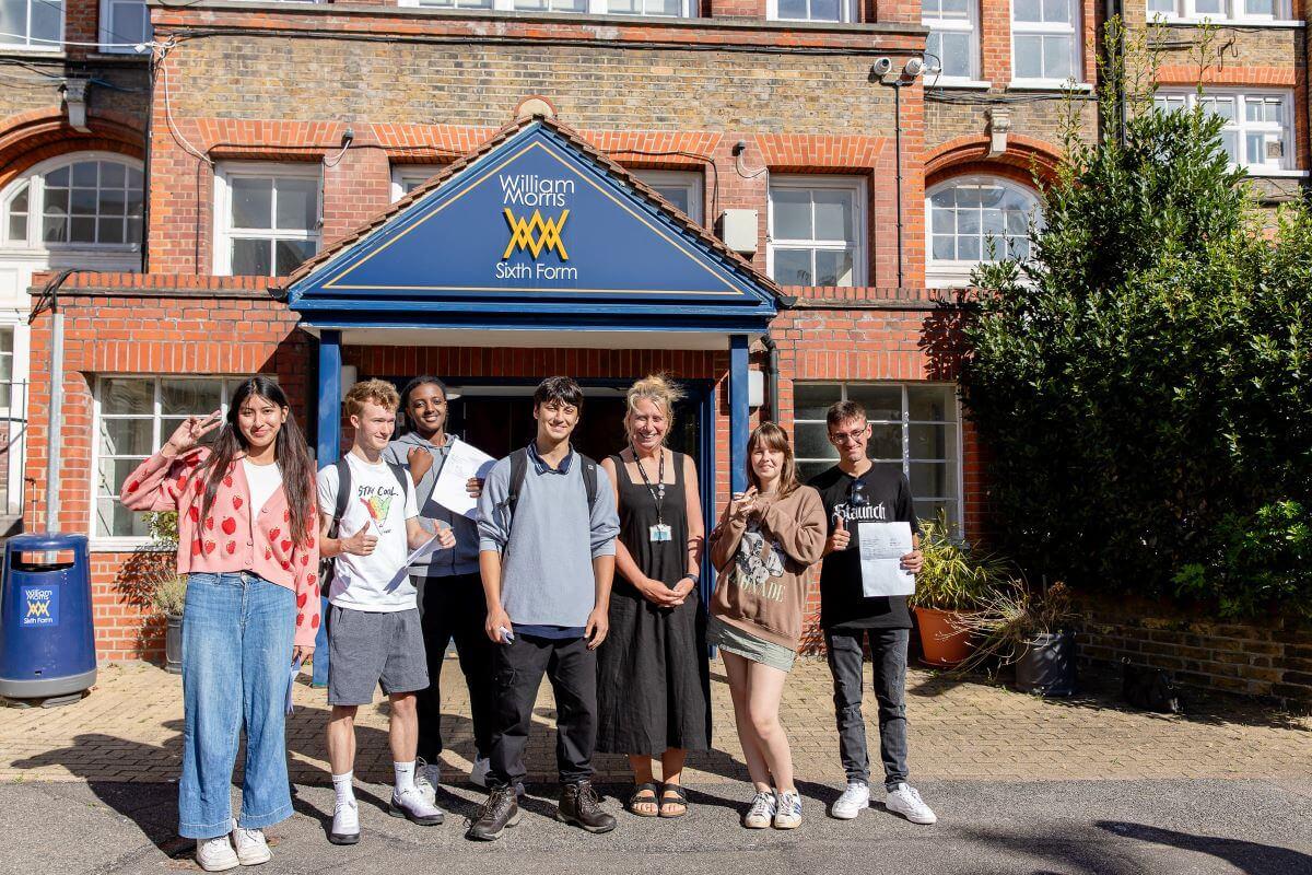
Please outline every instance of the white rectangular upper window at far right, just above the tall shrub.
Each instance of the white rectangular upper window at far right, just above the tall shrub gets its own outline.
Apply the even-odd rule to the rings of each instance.
[[[1153,105],[1164,112],[1202,106],[1225,119],[1221,147],[1231,163],[1252,173],[1294,169],[1294,96],[1284,92],[1158,91]]]

